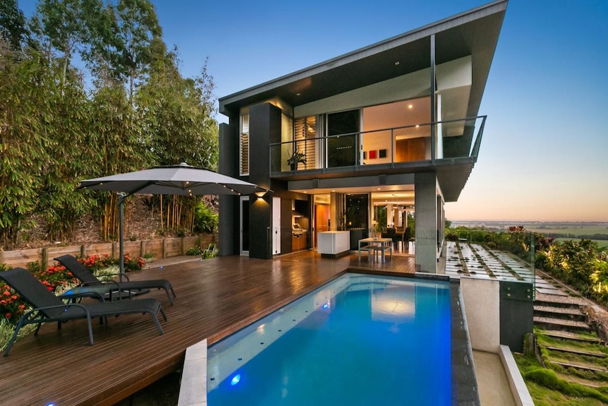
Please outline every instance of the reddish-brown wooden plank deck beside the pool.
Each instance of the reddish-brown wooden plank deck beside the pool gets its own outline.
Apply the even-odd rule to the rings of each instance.
[[[174,285],[174,306],[162,290],[146,295],[164,306],[164,335],[150,316],[126,315],[110,318],[107,326],[95,323],[90,346],[83,321],[60,331],[47,323],[37,337],[18,340],[0,358],[0,404],[114,405],[180,369],[186,347],[203,338],[211,344],[347,268],[415,271],[413,256],[377,263],[358,261],[357,253],[332,260],[305,251],[271,261],[209,258],[130,274],[132,280],[165,278]]]

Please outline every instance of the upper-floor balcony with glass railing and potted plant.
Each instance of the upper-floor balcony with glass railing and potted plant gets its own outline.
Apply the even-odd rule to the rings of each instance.
[[[270,145],[270,176],[275,179],[363,176],[472,165],[478,157],[486,116],[434,124],[343,133]],[[293,151],[302,156],[291,162]]]

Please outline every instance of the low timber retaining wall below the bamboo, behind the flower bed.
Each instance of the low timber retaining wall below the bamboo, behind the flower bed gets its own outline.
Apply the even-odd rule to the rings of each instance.
[[[131,257],[153,255],[154,258],[167,258],[170,256],[185,255],[188,249],[200,245],[202,249],[207,248],[214,241],[214,234],[202,234],[197,237],[174,237],[164,239],[150,239],[140,241],[125,241],[125,253]],[[71,245],[71,246],[49,246],[46,248],[20,249],[15,251],[1,251],[0,263],[5,263],[8,268],[27,268],[28,263],[36,262],[41,268],[47,268],[54,264],[53,258],[66,254],[73,256],[90,256],[95,254],[109,254],[112,258],[118,258],[120,247],[118,242],[102,242],[98,244]]]

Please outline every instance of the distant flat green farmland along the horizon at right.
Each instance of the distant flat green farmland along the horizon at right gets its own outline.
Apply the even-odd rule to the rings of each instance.
[[[539,232],[557,241],[590,239],[600,247],[608,246],[608,222],[538,222],[538,221],[453,221],[451,227],[467,227],[506,231],[511,226],[523,225],[528,231]]]

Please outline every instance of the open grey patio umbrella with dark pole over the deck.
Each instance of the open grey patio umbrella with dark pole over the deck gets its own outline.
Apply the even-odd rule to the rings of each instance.
[[[120,270],[124,272],[123,208],[127,196],[140,194],[166,194],[178,196],[200,195],[248,195],[267,192],[255,184],[242,181],[209,169],[180,165],[153,167],[142,171],[116,174],[109,177],[80,181],[79,189],[95,189],[118,192],[118,221]]]

